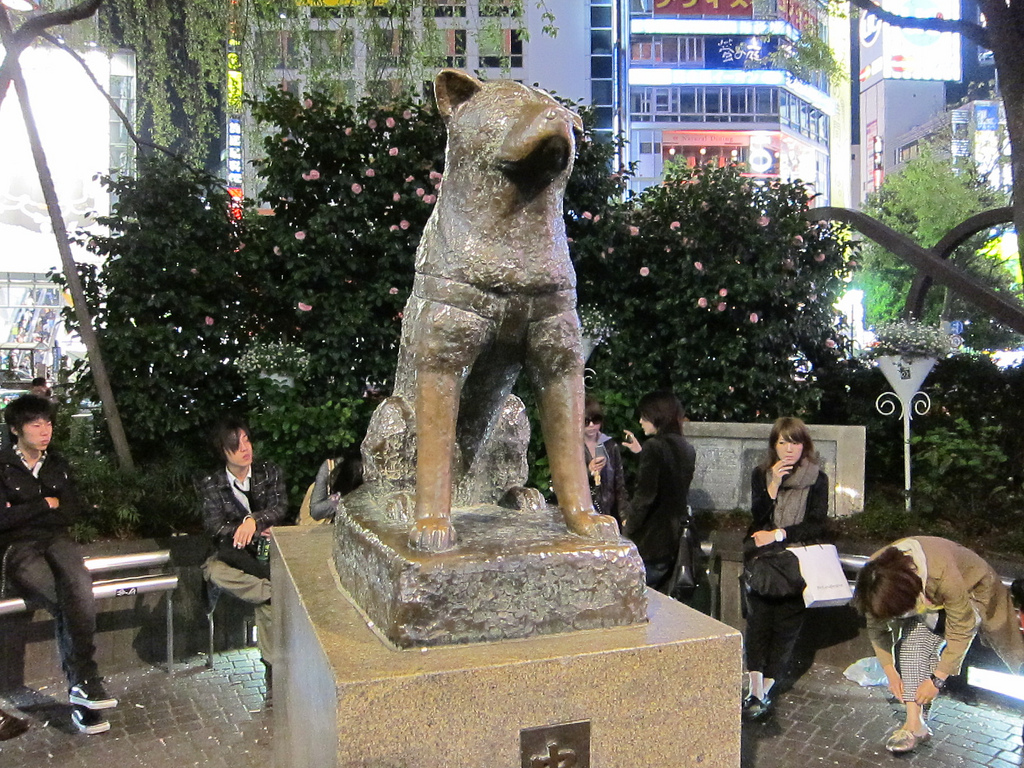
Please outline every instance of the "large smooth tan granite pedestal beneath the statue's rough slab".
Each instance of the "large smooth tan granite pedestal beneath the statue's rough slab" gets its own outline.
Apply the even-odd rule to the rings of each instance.
[[[399,650],[330,530],[275,529],[271,567],[275,768],[519,768],[521,731],[581,721],[593,768],[739,765],[740,635],[662,595],[633,627]]]

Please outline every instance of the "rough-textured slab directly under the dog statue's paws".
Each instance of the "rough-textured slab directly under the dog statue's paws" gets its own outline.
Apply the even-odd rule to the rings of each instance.
[[[621,627],[646,621],[643,561],[626,539],[565,528],[554,508],[453,510],[456,550],[409,546],[409,523],[369,495],[346,497],[335,523],[344,590],[398,647]]]

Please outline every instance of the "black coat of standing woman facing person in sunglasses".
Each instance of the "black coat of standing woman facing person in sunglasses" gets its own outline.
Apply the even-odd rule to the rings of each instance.
[[[625,532],[645,563],[676,559],[696,456],[678,434],[655,434],[643,444]]]

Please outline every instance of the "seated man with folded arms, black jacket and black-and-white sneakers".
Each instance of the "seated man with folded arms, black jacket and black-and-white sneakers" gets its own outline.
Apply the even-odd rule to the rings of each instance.
[[[34,394],[4,409],[16,442],[0,451],[0,551],[13,592],[55,620],[72,721],[83,733],[102,733],[111,724],[101,711],[118,701],[103,690],[94,660],[92,578],[68,532],[78,497],[68,462],[49,450],[52,418],[50,401]]]

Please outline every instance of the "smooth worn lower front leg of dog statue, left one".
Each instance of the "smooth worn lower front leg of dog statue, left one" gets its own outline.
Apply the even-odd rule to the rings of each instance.
[[[455,374],[421,370],[416,388],[416,512],[409,543],[444,552],[456,544],[452,461],[461,382]]]

